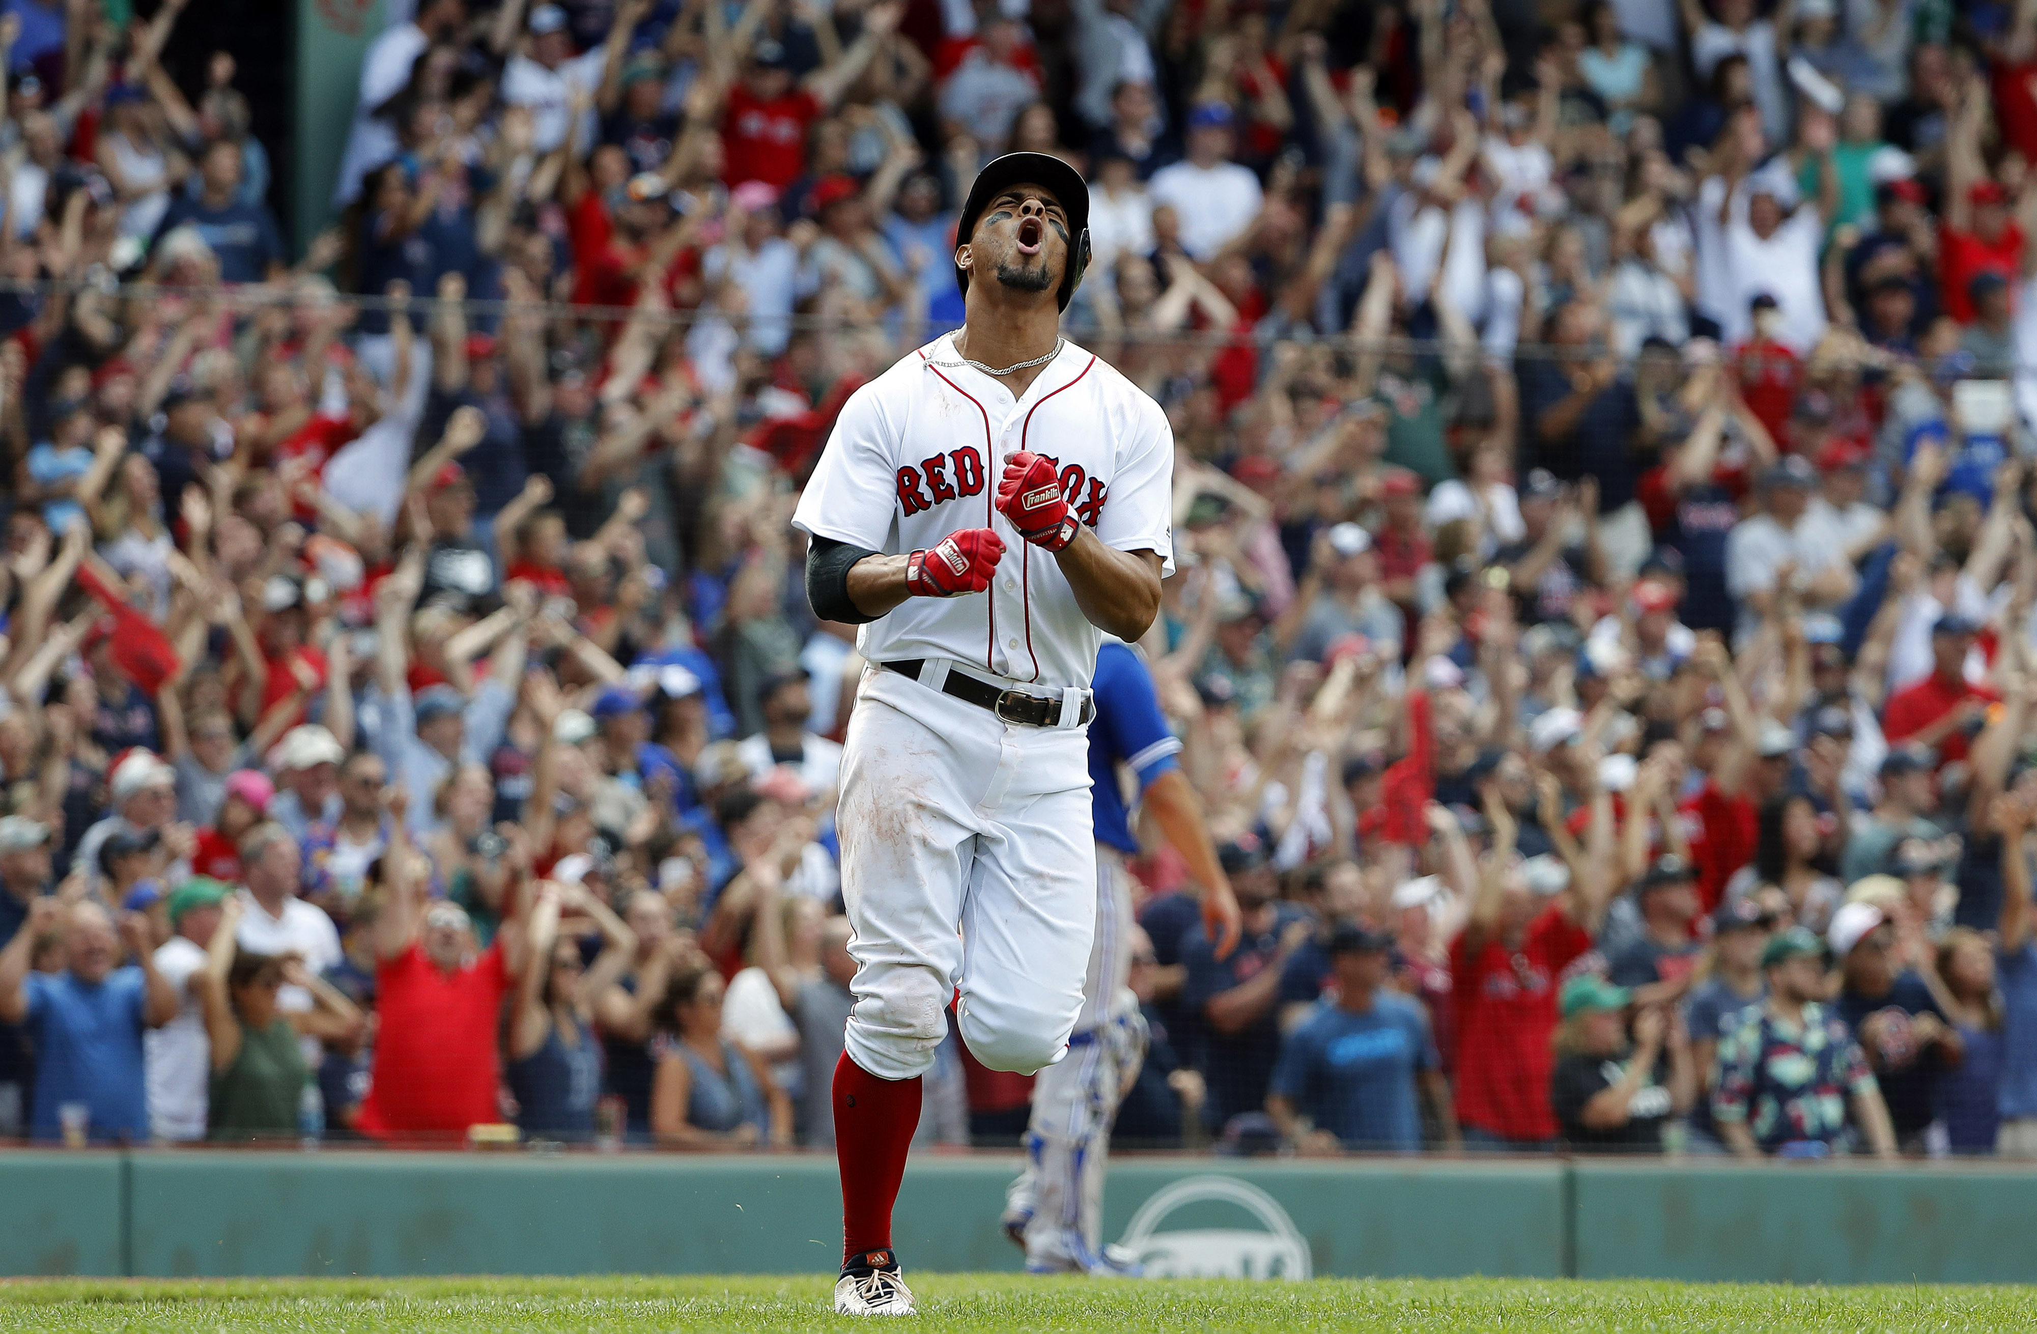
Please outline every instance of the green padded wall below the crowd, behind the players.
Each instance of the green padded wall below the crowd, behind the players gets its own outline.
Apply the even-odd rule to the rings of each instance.
[[[1014,1157],[919,1157],[913,1269],[1016,1269]],[[1122,1159],[1104,1236],[1159,1273],[2037,1281],[2037,1171]],[[825,1157],[0,1153],[0,1273],[803,1273],[837,1263]]]

